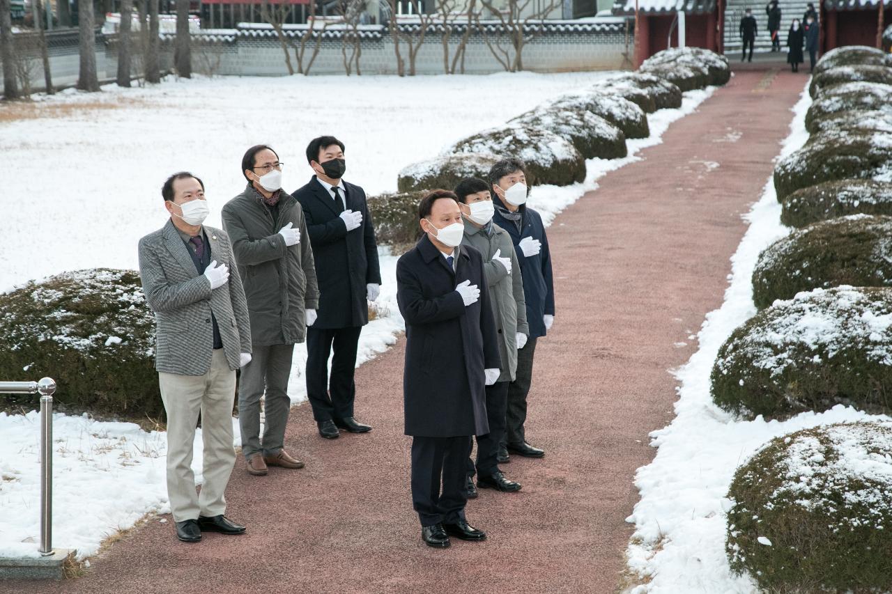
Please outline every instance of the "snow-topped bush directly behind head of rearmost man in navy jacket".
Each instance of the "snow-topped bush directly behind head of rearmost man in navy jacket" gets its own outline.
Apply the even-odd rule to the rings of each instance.
[[[570,186],[585,179],[585,160],[576,147],[545,128],[508,123],[468,136],[444,151],[444,154],[481,153],[524,161],[530,186]]]

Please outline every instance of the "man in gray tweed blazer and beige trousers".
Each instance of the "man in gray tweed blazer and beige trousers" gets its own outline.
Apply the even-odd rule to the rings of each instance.
[[[155,368],[167,412],[167,483],[179,540],[241,534],[224,491],[235,464],[235,370],[251,360],[251,326],[235,258],[220,229],[204,227],[202,180],[176,173],[161,188],[170,219],[139,240],[139,274],[155,313]],[[192,472],[198,415],[204,442],[201,495]]]

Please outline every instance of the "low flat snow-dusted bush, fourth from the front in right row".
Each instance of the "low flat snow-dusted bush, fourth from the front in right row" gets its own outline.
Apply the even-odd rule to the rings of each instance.
[[[858,213],[892,215],[892,184],[872,179],[825,182],[789,194],[781,207],[780,222],[788,227]]]

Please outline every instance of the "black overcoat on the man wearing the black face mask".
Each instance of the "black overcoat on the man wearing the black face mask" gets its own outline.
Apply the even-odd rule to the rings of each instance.
[[[347,209],[362,213],[362,225],[347,232],[341,219],[343,205],[313,176],[292,195],[301,203],[316,260],[319,284],[318,318],[313,328],[333,329],[368,324],[366,285],[381,284],[375,227],[368,213],[366,193],[343,182]]]

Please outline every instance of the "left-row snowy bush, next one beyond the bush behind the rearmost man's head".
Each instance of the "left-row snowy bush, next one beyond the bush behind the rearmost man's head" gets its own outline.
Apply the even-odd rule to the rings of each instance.
[[[622,159],[628,153],[623,130],[589,111],[560,106],[538,108],[508,123],[550,130],[573,144],[583,159]]]

